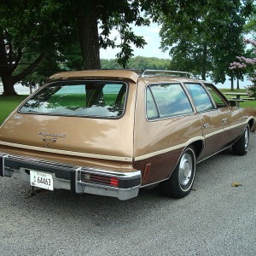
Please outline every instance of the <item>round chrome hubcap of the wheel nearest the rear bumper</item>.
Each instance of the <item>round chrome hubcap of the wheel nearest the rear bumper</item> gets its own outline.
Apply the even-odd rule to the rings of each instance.
[[[178,180],[182,186],[189,183],[193,171],[193,160],[190,154],[183,154],[179,164]]]

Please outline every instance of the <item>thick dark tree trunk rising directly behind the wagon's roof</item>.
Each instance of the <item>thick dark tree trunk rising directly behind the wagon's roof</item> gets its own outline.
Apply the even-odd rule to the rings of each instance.
[[[100,69],[100,44],[96,2],[88,1],[87,8],[79,10],[79,43],[84,69]]]

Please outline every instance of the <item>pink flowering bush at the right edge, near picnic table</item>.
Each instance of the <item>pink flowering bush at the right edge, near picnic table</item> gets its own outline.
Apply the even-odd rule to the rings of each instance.
[[[255,49],[253,49],[253,54],[256,55],[256,40],[253,39],[245,39],[244,40],[246,44],[251,44]],[[247,65],[250,65],[253,67],[252,72],[249,74],[250,80],[252,81],[252,85],[247,86],[248,94],[249,96],[256,97],[256,58],[246,58],[243,56],[237,56],[236,57],[240,62],[232,62],[230,64],[230,69],[235,68],[244,68],[247,67]]]

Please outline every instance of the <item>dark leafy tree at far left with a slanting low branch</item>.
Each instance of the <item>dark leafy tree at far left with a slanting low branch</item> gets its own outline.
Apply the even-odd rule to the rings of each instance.
[[[44,1],[0,3],[0,77],[3,95],[15,95],[14,84],[25,79],[47,55],[55,55],[65,44],[70,29],[49,22],[55,8]]]

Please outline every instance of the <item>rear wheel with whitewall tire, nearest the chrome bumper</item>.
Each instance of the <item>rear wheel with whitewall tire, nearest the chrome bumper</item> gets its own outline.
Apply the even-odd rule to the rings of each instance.
[[[182,198],[189,194],[195,180],[195,149],[189,146],[183,151],[172,176],[161,183],[163,193],[172,198]]]

